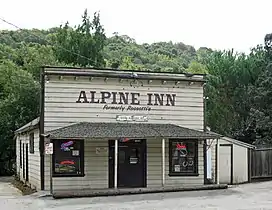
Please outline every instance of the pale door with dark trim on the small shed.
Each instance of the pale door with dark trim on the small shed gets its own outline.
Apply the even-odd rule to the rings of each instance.
[[[219,182],[231,184],[231,146],[220,145],[219,148]]]

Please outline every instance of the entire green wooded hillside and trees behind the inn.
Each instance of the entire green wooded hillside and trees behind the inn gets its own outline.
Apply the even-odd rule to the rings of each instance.
[[[182,42],[138,44],[106,37],[100,14],[78,26],[0,31],[0,175],[12,173],[14,131],[39,114],[41,65],[207,74],[207,126],[258,146],[271,145],[272,35],[248,55],[195,49]],[[12,161],[11,161],[12,160]]]

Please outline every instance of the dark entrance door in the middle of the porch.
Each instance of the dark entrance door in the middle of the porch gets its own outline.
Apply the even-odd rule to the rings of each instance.
[[[109,187],[114,187],[114,140],[109,141]],[[146,187],[146,140],[118,142],[118,188]]]

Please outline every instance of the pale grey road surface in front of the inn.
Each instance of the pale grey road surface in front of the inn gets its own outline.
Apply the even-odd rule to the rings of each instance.
[[[1,210],[272,210],[272,181],[233,186],[226,190],[158,193],[54,200],[21,196],[0,181]]]

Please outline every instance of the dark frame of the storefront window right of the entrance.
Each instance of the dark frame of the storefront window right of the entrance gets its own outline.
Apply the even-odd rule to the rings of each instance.
[[[184,143],[187,142],[193,142],[195,144],[195,157],[194,157],[194,161],[195,161],[195,172],[174,172],[173,171],[173,167],[172,167],[172,159],[173,159],[173,153],[172,153],[172,143],[174,141],[182,141]],[[197,139],[180,139],[180,138],[175,138],[175,139],[169,139],[169,174],[168,176],[199,176],[198,173],[198,145],[199,145],[199,141]]]

